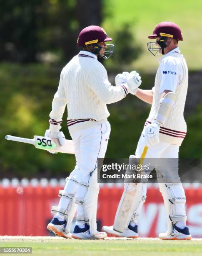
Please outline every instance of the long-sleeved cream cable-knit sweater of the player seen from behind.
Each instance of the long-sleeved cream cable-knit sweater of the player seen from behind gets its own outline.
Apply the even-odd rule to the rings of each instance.
[[[121,100],[130,90],[127,84],[112,86],[97,56],[80,51],[62,69],[59,87],[52,101],[50,130],[59,131],[66,105],[67,125],[70,127],[86,121],[106,120],[110,115],[106,104]]]

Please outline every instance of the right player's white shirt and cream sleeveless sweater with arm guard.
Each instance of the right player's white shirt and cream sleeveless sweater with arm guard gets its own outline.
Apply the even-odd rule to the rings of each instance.
[[[153,102],[145,126],[152,122],[158,112],[161,94],[164,90],[175,92],[176,100],[165,124],[160,127],[160,141],[181,145],[187,133],[184,119],[185,100],[188,87],[188,69],[185,58],[175,48],[159,59],[160,66],[155,78]],[[143,130],[144,133],[144,130]]]

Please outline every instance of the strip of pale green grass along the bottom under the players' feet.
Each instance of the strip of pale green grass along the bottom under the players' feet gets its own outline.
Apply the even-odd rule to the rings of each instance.
[[[105,238],[106,239],[106,238]],[[201,256],[202,239],[160,241],[159,239],[107,238],[66,240],[59,237],[0,237],[0,247],[32,247],[32,255],[55,256]],[[18,255],[18,254],[17,254]],[[28,254],[29,255],[29,254]]]

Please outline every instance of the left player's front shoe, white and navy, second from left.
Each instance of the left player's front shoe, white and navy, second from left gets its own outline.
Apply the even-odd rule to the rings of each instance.
[[[98,232],[94,235],[90,234],[90,227],[85,223],[84,228],[80,228],[78,225],[75,226],[74,232],[72,233],[72,238],[75,239],[104,239],[107,237],[105,232]]]

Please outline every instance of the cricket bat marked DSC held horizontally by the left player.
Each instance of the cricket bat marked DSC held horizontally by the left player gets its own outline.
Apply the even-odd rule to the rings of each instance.
[[[11,135],[6,135],[5,139],[8,141],[18,141],[23,143],[29,143],[35,146],[35,148],[52,150],[60,153],[75,154],[75,148],[72,140],[66,140],[65,145],[61,146],[58,139],[52,139],[43,136],[35,135],[33,139],[20,138]]]

